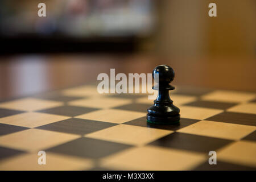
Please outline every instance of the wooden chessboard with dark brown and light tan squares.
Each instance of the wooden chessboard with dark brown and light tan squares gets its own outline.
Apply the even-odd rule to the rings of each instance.
[[[93,85],[1,101],[0,169],[256,169],[256,93],[176,86],[170,97],[179,125],[147,123],[147,94]]]

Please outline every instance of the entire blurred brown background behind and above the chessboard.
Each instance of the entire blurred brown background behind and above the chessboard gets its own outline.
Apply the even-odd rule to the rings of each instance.
[[[255,0],[1,0],[0,100],[159,64],[174,85],[255,92],[255,22]]]

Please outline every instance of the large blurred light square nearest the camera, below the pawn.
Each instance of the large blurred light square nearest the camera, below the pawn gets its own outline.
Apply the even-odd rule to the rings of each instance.
[[[205,155],[155,146],[133,147],[101,160],[101,167],[115,170],[189,170]]]

